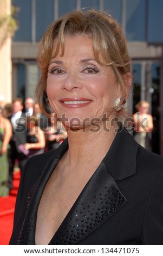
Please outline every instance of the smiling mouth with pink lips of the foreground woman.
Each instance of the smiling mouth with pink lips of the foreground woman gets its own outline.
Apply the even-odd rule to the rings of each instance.
[[[88,106],[92,100],[83,98],[83,97],[74,97],[74,98],[63,98],[59,102],[62,106],[67,108],[80,108]]]

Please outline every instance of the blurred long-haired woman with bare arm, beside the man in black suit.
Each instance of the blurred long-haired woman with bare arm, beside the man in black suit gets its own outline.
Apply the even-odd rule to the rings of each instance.
[[[39,155],[44,152],[44,132],[38,126],[38,123],[38,118],[34,115],[27,117],[27,143],[25,143],[23,147],[27,150],[28,157]]]

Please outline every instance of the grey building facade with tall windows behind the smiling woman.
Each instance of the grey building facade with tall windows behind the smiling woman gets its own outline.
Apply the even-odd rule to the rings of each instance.
[[[163,1],[162,0],[12,0],[19,7],[19,29],[12,39],[12,98],[34,97],[40,71],[37,46],[48,25],[74,9],[93,8],[109,12],[121,23],[132,57],[133,90],[128,110],[147,100],[151,104],[153,151],[163,155]]]

